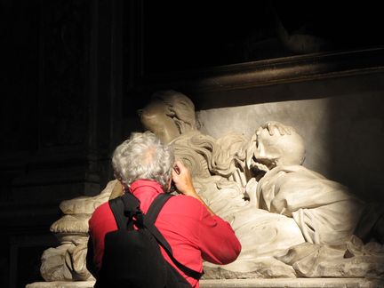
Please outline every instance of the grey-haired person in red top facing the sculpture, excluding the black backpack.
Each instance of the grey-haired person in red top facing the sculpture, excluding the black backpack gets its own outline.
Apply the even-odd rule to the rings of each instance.
[[[112,159],[116,179],[125,193],[140,201],[140,209],[148,207],[160,193],[167,193],[173,180],[180,195],[171,197],[158,215],[156,228],[172,247],[173,256],[195,271],[203,270],[203,260],[227,264],[236,260],[241,250],[228,222],[216,216],[196,194],[188,168],[174,161],[172,148],[163,144],[152,132],[132,133],[118,146]],[[102,267],[104,238],[117,229],[109,204],[101,204],[89,220],[96,269]],[[162,250],[165,260],[175,264]],[[129,261],[129,260],[127,260]],[[178,272],[193,287],[198,280]]]

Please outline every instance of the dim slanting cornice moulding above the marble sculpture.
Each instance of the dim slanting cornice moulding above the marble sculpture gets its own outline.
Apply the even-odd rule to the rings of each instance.
[[[219,92],[270,84],[382,72],[384,48],[322,52],[235,65],[143,76],[153,89]]]

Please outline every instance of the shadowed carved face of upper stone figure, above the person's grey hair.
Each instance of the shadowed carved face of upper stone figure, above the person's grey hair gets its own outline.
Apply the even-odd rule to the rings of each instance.
[[[139,112],[143,126],[164,143],[168,144],[180,135],[172,117],[168,116],[167,107],[161,100],[153,100]]]

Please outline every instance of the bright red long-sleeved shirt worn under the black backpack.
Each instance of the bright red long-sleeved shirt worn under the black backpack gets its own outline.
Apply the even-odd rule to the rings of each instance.
[[[155,197],[164,193],[161,185],[153,180],[137,180],[132,183],[130,190],[140,200],[140,209],[144,213]],[[228,264],[236,260],[241,251],[241,244],[229,223],[212,215],[194,197],[173,196],[164,204],[155,225],[171,245],[173,256],[196,271],[203,270],[203,260],[220,265]],[[89,220],[94,263],[99,269],[104,252],[104,236],[116,229],[116,220],[108,202],[101,204]],[[163,248],[161,250],[164,258],[175,267]],[[176,269],[193,287],[199,286],[196,279]]]

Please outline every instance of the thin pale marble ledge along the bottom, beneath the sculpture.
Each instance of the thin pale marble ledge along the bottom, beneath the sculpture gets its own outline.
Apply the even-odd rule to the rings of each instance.
[[[93,281],[36,282],[26,288],[92,288]],[[201,288],[384,288],[384,279],[365,278],[279,278],[201,280]]]

